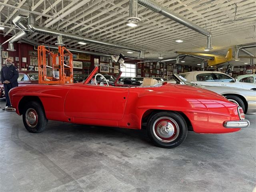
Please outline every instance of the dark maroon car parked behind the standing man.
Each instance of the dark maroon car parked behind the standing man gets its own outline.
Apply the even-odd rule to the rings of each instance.
[[[38,84],[38,71],[19,71],[18,86],[26,84]],[[4,85],[0,82],[0,99],[4,98]]]

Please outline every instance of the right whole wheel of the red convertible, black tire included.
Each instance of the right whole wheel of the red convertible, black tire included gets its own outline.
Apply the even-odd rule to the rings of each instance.
[[[176,112],[159,112],[148,119],[150,140],[159,147],[174,148],[186,139],[188,128],[184,118]]]

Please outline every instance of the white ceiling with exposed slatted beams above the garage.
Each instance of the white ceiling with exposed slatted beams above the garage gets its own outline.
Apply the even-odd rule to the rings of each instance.
[[[18,11],[16,8],[28,10],[28,3],[31,2],[32,11],[38,12],[37,25],[141,48],[144,50],[144,58],[150,60],[156,60],[160,54],[164,58],[171,58],[176,56],[174,51],[202,52],[206,47],[206,37],[202,34],[142,6],[138,6],[138,16],[141,18],[139,25],[135,28],[126,26],[128,0],[0,0],[0,2],[1,25],[14,27],[12,16]],[[255,0],[156,0],[156,2],[210,31],[214,48],[211,53],[226,54],[228,48],[234,48],[237,44],[256,42],[256,17],[234,21],[235,16],[236,19],[240,19],[255,15]],[[4,30],[5,36],[14,33],[14,29]],[[52,44],[56,42],[55,36],[42,34],[33,33],[28,38],[37,42]],[[178,39],[184,42],[175,42]],[[127,54],[126,50],[112,47],[96,44],[82,46],[68,39],[64,42],[66,46],[72,48],[110,54],[121,52],[127,56],[138,57],[138,53]],[[255,53],[255,48],[248,50]]]

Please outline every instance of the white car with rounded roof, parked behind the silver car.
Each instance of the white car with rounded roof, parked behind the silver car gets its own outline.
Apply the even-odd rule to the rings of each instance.
[[[179,74],[192,83],[198,85],[235,87],[247,90],[256,90],[256,84],[239,82],[236,79],[215,71],[192,71]]]

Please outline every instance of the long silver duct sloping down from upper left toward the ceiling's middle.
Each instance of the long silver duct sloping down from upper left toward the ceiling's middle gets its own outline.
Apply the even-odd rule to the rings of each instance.
[[[32,30],[33,32],[40,33],[40,34],[53,35],[53,36],[61,35],[63,38],[77,40],[79,42],[88,42],[88,43],[93,43],[93,44],[100,44],[100,45],[104,45],[104,46],[110,46],[110,47],[114,47],[114,48],[118,48],[118,49],[125,49],[125,50],[130,50],[130,51],[135,51],[135,52],[142,52],[142,50],[139,50],[139,49],[136,49],[136,48],[120,46],[120,45],[116,45],[116,44],[112,44],[112,43],[108,43],[108,42],[103,42],[103,41],[99,41],[99,40],[85,38],[85,37],[80,36],[80,35],[70,34],[70,33],[61,32],[61,31],[58,31],[58,30],[53,30],[53,29],[49,29],[49,28],[36,26],[35,16],[33,14],[29,15],[28,28],[30,30]]]

